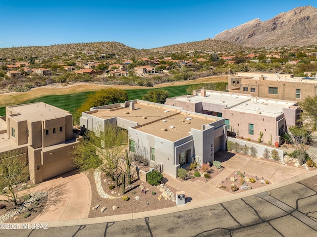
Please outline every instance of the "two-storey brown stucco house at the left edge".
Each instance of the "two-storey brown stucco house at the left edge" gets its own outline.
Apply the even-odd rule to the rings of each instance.
[[[73,133],[71,113],[43,102],[8,106],[5,113],[0,153],[18,150],[33,184],[75,169],[72,152],[80,137]]]

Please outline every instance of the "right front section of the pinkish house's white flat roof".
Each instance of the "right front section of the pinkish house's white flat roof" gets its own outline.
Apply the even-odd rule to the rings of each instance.
[[[296,103],[296,101],[272,100],[254,97],[251,100],[236,105],[228,110],[276,117],[277,115],[283,113],[283,108],[295,105]]]

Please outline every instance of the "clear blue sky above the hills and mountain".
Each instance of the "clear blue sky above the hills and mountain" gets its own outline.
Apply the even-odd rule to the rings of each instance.
[[[0,48],[116,41],[154,48],[213,38],[316,0],[0,0]]]

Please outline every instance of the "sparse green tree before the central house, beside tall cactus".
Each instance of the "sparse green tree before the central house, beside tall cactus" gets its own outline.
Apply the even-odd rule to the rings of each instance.
[[[95,133],[88,131],[74,151],[74,163],[80,171],[100,168],[112,181],[122,173],[118,160],[127,132],[110,123]]]

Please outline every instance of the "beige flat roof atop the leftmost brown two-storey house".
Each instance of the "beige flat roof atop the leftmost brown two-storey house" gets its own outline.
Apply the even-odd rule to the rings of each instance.
[[[12,116],[17,121],[30,120],[35,122],[70,115],[66,110],[43,102],[8,106],[8,108],[19,114]]]

